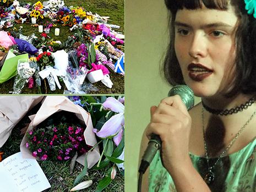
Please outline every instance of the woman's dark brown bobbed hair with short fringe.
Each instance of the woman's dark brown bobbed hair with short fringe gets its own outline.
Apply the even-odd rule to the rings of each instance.
[[[170,43],[162,69],[165,79],[171,85],[185,84],[175,54],[174,21],[179,9],[200,9],[204,5],[208,9],[227,10],[228,5],[235,7],[238,21],[236,30],[236,79],[235,86],[226,94],[227,97],[237,94],[251,94],[256,91],[256,19],[248,15],[243,0],[165,0],[170,10]]]

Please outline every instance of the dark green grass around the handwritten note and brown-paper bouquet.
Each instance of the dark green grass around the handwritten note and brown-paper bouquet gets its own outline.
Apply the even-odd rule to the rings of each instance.
[[[3,151],[3,159],[13,155],[20,151],[19,146],[21,140],[23,139],[22,134],[20,134],[20,130],[25,127],[26,123],[29,123],[30,120],[28,118],[29,115],[35,114],[36,111],[39,109],[40,105],[34,107],[21,121],[14,127],[12,134],[10,135],[7,142],[0,148],[0,151]],[[78,173],[83,169],[81,164],[76,163],[74,172],[70,174],[69,171],[69,163],[67,162],[52,162],[52,161],[38,161],[43,172],[45,173],[47,179],[51,184],[51,188],[45,190],[45,192],[61,192],[61,191],[69,191],[73,188],[73,183],[75,178],[77,177]],[[104,177],[104,173],[110,167],[106,167],[105,169],[101,169],[100,171],[90,170],[88,174],[85,176],[83,180],[92,180],[92,185],[80,191],[88,191],[92,192],[96,190],[97,183],[99,180]],[[123,175],[117,171],[117,175],[115,180],[111,182],[110,185],[104,191],[109,192],[121,192],[124,191],[124,177]]]

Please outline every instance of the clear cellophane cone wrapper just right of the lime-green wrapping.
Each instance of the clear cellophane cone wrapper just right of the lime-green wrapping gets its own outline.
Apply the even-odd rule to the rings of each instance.
[[[13,94],[20,94],[21,90],[28,83],[29,78],[35,73],[37,64],[35,62],[19,62],[17,65],[17,75],[14,80]]]

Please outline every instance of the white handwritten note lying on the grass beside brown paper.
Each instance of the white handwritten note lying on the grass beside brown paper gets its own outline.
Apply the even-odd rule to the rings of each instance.
[[[21,152],[0,163],[0,186],[6,192],[41,192],[51,185],[34,159],[24,159]]]

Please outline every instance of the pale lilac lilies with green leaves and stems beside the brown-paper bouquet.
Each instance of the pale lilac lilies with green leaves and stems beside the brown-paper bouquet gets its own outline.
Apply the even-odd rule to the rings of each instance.
[[[96,191],[101,191],[115,179],[117,170],[124,174],[124,97],[73,96],[70,100],[90,112],[99,139],[96,145],[103,143],[100,160],[92,169],[99,170],[111,164],[97,185]],[[78,184],[86,172],[85,166],[74,184]]]

